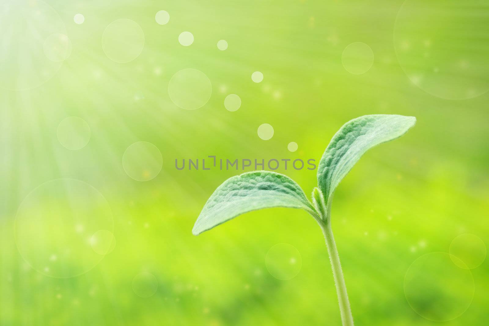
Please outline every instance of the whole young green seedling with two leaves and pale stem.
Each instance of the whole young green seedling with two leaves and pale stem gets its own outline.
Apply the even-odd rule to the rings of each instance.
[[[317,221],[326,239],[343,326],[353,326],[345,280],[331,230],[333,193],[363,153],[402,136],[415,123],[415,117],[376,114],[364,115],[344,124],[333,136],[319,161],[318,187],[312,191],[312,203],[299,185],[284,174],[254,171],[233,176],[224,181],[207,200],[192,233],[198,235],[238,215],[262,208],[304,209]]]

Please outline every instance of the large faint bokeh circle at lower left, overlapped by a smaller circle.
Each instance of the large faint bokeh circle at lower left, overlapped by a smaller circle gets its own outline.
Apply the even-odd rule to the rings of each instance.
[[[76,179],[55,179],[22,201],[14,235],[22,258],[36,271],[54,278],[88,272],[103,256],[90,239],[98,230],[113,230],[112,211],[95,188]]]

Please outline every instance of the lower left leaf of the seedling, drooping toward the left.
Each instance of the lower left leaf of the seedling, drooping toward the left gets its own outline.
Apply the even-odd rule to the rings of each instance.
[[[227,179],[214,191],[192,233],[198,235],[238,215],[271,207],[302,208],[316,215],[301,187],[287,175],[247,172]]]

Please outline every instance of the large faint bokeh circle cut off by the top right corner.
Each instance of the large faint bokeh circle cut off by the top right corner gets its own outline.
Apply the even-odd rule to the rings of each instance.
[[[467,9],[469,8],[469,9]],[[409,80],[425,92],[463,100],[489,89],[488,18],[479,0],[405,0],[394,24],[394,48]]]

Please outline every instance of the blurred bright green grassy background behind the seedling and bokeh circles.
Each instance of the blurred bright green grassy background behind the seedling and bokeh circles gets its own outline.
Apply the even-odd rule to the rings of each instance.
[[[414,115],[418,123],[368,152],[335,193],[333,232],[352,312],[357,325],[438,324],[411,309],[404,275],[416,258],[447,252],[462,233],[489,243],[488,94],[449,101],[409,82],[392,37],[402,1],[47,2],[66,23],[71,56],[42,87],[0,89],[0,325],[340,325],[324,239],[311,217],[252,212],[194,237],[202,205],[236,171],[177,171],[174,160],[318,162],[343,123],[371,113]],[[170,13],[167,25],[154,21],[158,10]],[[72,20],[78,12],[85,15],[81,25]],[[141,55],[123,65],[101,47],[105,27],[118,18],[138,22],[145,33]],[[189,47],[178,44],[185,30],[195,37]],[[227,50],[217,50],[220,39]],[[484,40],[473,41],[475,51],[486,51]],[[341,53],[358,41],[371,46],[375,61],[367,73],[352,75]],[[213,85],[209,102],[192,111],[176,107],[167,92],[173,74],[188,67]],[[260,84],[250,80],[256,70],[265,76]],[[223,107],[229,93],[242,99],[236,112]],[[91,129],[79,151],[56,138],[59,123],[73,115]],[[262,123],[275,130],[268,141],[256,134]],[[134,181],[122,168],[122,154],[136,141],[162,153],[153,180]],[[287,151],[290,141],[297,152]],[[278,172],[308,195],[315,186],[315,171]],[[106,197],[117,241],[92,270],[69,279],[30,268],[13,231],[23,198],[59,177],[86,181]],[[289,281],[265,266],[268,249],[280,242],[302,256]],[[143,271],[158,280],[150,298],[132,289]],[[471,305],[444,325],[488,324],[489,263],[471,272]]]

